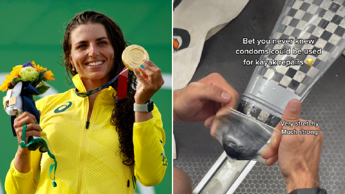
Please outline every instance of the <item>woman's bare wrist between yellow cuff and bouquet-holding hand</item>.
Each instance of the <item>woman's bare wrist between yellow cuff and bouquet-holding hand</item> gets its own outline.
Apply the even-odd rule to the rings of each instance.
[[[14,167],[16,167],[17,171],[20,173],[27,173],[31,169],[31,162],[30,162],[30,152],[28,148],[21,148],[18,146],[18,151],[16,158],[14,159]]]

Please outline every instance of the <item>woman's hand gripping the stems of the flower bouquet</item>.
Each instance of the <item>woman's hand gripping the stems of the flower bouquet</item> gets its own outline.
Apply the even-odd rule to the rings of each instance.
[[[39,111],[41,115],[41,111]],[[22,140],[22,133],[23,133],[23,125],[27,124],[26,126],[26,133],[25,133],[25,143],[28,143],[30,136],[41,136],[41,127],[36,124],[36,117],[28,112],[24,112],[23,114],[19,115],[16,119],[14,119],[14,129],[16,130],[18,143],[20,144]],[[21,153],[29,153],[27,147],[21,148],[19,151]]]

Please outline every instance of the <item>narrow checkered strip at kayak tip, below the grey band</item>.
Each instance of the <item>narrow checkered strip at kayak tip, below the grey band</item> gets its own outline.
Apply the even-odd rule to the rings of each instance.
[[[266,125],[269,125],[271,127],[276,127],[281,118],[259,108],[253,105],[252,103],[246,102],[244,100],[241,100],[237,111],[240,113],[243,113],[249,117],[252,117],[262,123],[265,123]]]

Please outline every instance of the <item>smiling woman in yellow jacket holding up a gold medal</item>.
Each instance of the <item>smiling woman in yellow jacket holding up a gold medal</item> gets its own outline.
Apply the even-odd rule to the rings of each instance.
[[[31,114],[15,120],[16,131],[32,123],[28,130],[47,134],[59,164],[57,187],[47,181],[47,153],[18,147],[6,176],[8,194],[133,194],[136,180],[144,186],[161,182],[167,168],[165,132],[151,97],[164,80],[148,59],[140,72],[126,69],[121,59],[126,47],[119,26],[104,14],[86,11],[68,23],[62,65],[76,88],[36,102],[39,126]],[[126,79],[113,81],[119,74]],[[122,100],[120,88],[127,94]]]

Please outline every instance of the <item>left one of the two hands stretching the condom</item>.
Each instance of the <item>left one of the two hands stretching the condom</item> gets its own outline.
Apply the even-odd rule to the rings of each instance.
[[[214,115],[222,106],[235,108],[239,95],[227,81],[217,73],[190,83],[174,92],[174,121],[204,121],[210,127]]]

